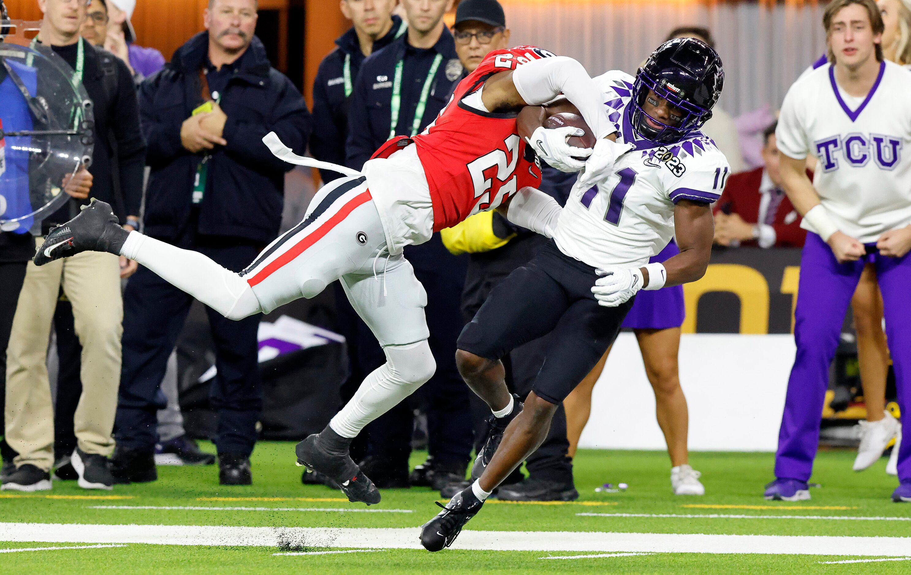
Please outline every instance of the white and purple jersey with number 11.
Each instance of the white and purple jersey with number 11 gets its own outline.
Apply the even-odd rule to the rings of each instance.
[[[636,136],[630,105],[634,78],[612,70],[595,78],[604,92],[617,141],[636,144],[597,186],[573,187],[554,240],[564,254],[593,267],[643,266],[674,236],[674,204],[714,202],[730,175],[728,161],[701,132],[656,145]]]

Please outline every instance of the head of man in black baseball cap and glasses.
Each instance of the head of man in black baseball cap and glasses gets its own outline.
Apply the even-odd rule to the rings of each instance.
[[[493,50],[509,47],[503,6],[496,0],[462,0],[455,10],[455,52],[471,74]]]

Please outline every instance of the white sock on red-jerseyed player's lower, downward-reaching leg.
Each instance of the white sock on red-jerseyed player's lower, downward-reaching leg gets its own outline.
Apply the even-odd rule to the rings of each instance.
[[[393,409],[434,375],[436,364],[427,340],[384,348],[386,363],[363,379],[330,427],[343,438],[353,438],[368,423]]]

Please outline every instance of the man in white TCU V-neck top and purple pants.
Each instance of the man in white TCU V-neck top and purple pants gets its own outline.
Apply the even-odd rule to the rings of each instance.
[[[810,499],[829,365],[867,263],[883,295],[898,404],[911,413],[911,72],[885,61],[873,0],[834,0],[823,24],[828,64],[784,97],[775,136],[784,190],[807,234],[794,311],[797,355],[788,380],[766,499]],[[814,181],[804,172],[818,159]],[[896,501],[911,500],[911,442],[898,452]]]

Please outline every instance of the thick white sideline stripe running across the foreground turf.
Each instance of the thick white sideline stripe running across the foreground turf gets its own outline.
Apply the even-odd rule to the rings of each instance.
[[[2,541],[145,543],[342,549],[423,549],[414,528],[230,527],[0,523]],[[911,537],[719,535],[598,531],[462,531],[453,549],[601,553],[762,553],[911,556]]]

